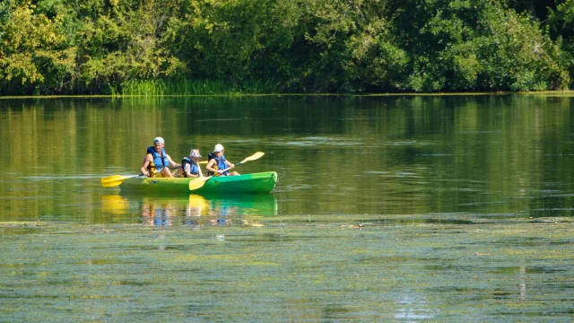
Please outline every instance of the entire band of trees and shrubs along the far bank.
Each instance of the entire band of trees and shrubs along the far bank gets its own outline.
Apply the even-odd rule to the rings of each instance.
[[[0,96],[573,88],[574,0],[4,0]]]

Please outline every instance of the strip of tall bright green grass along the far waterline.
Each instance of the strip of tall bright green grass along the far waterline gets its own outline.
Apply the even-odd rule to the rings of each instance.
[[[251,80],[241,84],[230,81],[195,80],[143,80],[127,81],[121,89],[111,88],[112,95],[164,96],[164,95],[239,95],[280,92],[278,83]]]

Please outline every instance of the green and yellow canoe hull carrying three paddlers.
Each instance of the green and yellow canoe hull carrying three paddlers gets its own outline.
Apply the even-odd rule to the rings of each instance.
[[[189,190],[189,181],[185,178],[148,178],[126,179],[119,186],[122,190],[145,193],[269,193],[277,183],[277,173],[266,171],[240,176],[220,176],[208,179],[202,188]]]

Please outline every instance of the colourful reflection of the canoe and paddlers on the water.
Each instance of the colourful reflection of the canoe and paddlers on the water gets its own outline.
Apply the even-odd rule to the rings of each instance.
[[[253,223],[258,216],[277,214],[273,194],[237,196],[102,196],[101,207],[111,214],[141,214],[143,223],[170,225],[229,225]]]

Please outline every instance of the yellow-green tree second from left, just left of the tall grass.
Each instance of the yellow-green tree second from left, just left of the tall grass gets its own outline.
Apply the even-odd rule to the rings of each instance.
[[[102,85],[116,88],[129,80],[185,73],[185,65],[161,41],[165,7],[151,0],[127,4],[91,6],[97,16],[83,22],[78,79],[91,92],[106,92]]]

